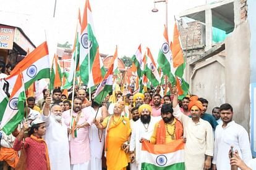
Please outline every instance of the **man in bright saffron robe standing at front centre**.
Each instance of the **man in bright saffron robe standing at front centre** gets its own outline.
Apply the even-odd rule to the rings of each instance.
[[[106,129],[105,156],[107,168],[111,170],[126,169],[128,165],[129,142],[130,142],[130,121],[121,115],[122,106],[119,103],[114,105],[114,114],[99,123],[95,119],[98,129]]]

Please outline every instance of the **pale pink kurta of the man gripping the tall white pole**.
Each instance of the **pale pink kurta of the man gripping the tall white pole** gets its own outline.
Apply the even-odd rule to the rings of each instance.
[[[73,111],[73,116],[77,116],[77,113]],[[64,111],[62,113],[64,118],[64,123],[69,127],[70,124],[70,110]],[[85,113],[82,110],[79,121],[77,124],[82,124],[87,122],[92,124],[93,116]],[[90,144],[89,144],[89,130],[88,127],[82,127],[77,130],[77,137],[72,138],[69,141],[70,150],[70,164],[82,164],[90,161]]]

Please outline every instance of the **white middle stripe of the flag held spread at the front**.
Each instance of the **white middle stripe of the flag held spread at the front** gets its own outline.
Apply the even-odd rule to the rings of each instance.
[[[142,157],[141,157],[142,163],[151,163],[151,164],[155,164],[155,166],[160,166],[158,163],[156,163],[156,158],[159,155],[155,155],[145,150],[142,150],[140,153],[142,154]],[[171,164],[176,164],[176,163],[182,163],[185,161],[184,150],[177,150],[176,152],[165,153],[161,155],[164,155],[167,158],[167,163],[164,164],[164,166],[169,166]]]

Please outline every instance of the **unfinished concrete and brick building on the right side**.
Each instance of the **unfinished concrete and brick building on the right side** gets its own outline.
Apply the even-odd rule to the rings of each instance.
[[[179,15],[192,21],[187,28],[179,26],[190,92],[210,102],[208,113],[215,106],[231,103],[234,120],[250,132],[254,156],[255,11],[255,1],[224,0]]]

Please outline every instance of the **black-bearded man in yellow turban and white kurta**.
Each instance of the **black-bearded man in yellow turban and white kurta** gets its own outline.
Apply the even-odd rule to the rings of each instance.
[[[130,153],[131,155],[135,152],[135,162],[130,166],[131,170],[141,169],[141,149],[142,144],[140,139],[150,140],[153,134],[155,124],[161,119],[159,117],[151,116],[150,105],[143,104],[139,107],[140,119],[134,122],[132,126],[132,136],[130,137]]]

